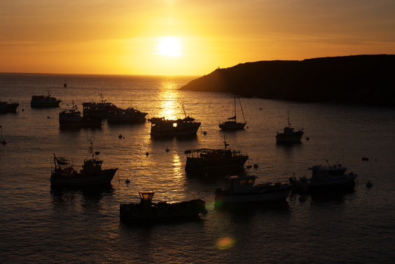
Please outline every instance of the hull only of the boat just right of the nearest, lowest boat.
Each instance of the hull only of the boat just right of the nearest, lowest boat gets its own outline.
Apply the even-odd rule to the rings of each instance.
[[[226,191],[215,191],[216,205],[242,204],[255,202],[280,202],[286,200],[291,193],[291,185],[283,185],[272,190],[257,190],[254,193],[227,193]]]

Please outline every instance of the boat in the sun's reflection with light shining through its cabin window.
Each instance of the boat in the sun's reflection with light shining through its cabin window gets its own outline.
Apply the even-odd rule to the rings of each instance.
[[[186,116],[185,110],[184,114]],[[177,118],[174,120],[162,118],[151,118],[151,136],[152,137],[172,137],[172,136],[188,136],[198,132],[201,125],[195,122],[195,118],[186,116],[185,118]]]

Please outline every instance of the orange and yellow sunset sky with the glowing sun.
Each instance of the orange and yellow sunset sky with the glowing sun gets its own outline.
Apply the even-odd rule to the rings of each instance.
[[[0,72],[209,74],[395,54],[394,0],[0,0]]]

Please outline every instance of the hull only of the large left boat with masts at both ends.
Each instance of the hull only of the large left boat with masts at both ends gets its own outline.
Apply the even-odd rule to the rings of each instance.
[[[78,173],[74,176],[59,175],[53,173],[50,177],[50,185],[53,187],[67,187],[67,186],[89,186],[111,183],[113,176],[116,174],[116,169],[104,169],[101,173],[96,175],[84,175]]]

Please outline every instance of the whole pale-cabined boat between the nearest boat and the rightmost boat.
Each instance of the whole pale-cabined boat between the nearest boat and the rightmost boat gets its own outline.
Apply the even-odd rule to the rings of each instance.
[[[260,183],[255,185],[257,176],[232,175],[226,176],[228,188],[216,188],[215,204],[245,204],[256,202],[280,202],[285,201],[291,193],[292,186],[289,183]]]

